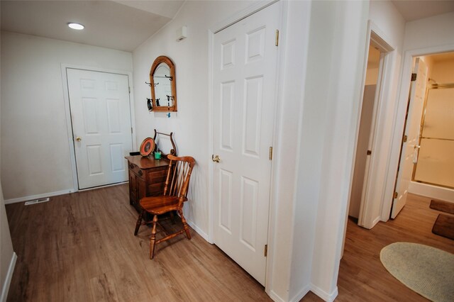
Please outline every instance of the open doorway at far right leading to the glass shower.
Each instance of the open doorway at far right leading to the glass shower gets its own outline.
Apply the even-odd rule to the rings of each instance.
[[[454,202],[453,67],[454,52],[414,57],[391,218],[405,205],[399,197],[406,192]],[[405,160],[408,150],[411,160]]]

